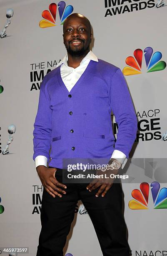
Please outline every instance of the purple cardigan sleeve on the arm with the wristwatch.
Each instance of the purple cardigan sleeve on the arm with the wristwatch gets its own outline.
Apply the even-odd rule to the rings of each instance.
[[[120,68],[112,77],[110,105],[118,125],[115,149],[123,152],[129,158],[137,135],[137,117],[125,77]]]

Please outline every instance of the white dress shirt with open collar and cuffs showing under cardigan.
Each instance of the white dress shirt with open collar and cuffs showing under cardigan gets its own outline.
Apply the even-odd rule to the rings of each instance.
[[[80,62],[80,66],[78,66],[76,68],[68,66],[68,64],[67,64],[68,55],[67,54],[57,64],[57,67],[59,67],[62,64],[60,67],[60,73],[61,73],[62,81],[64,82],[64,84],[67,87],[67,90],[69,92],[72,89],[72,87],[76,84],[78,79],[80,79],[81,75],[87,68],[87,65],[89,64],[90,60],[98,62],[97,57],[91,50],[82,59],[82,61]],[[116,150],[116,149],[113,151],[111,158],[114,158],[114,159],[117,159],[118,161],[120,161],[122,164],[122,169],[127,162],[126,155],[123,152]],[[47,166],[47,157],[46,156],[36,156],[35,157],[35,168],[39,165]]]

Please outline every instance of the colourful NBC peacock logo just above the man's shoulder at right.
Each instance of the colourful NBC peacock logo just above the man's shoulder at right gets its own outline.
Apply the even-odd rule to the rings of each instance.
[[[133,53],[133,56],[129,56],[126,58],[125,62],[130,67],[125,67],[122,70],[122,73],[125,76],[130,76],[134,74],[141,74],[142,69],[142,59],[143,59],[143,51],[142,49],[136,49]],[[151,47],[146,47],[144,49],[145,55],[145,63],[147,66],[147,72],[160,71],[165,69],[167,66],[165,61],[160,61],[162,58],[162,53],[160,51],[156,51],[153,54],[153,49]]]

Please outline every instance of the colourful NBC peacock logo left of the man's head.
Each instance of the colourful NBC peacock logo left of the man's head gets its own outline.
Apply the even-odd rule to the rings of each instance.
[[[59,16],[60,16],[60,22],[62,25],[67,18],[72,12],[73,12],[73,6],[72,5],[67,5],[65,7],[65,2],[60,1],[58,5],[56,3],[51,3],[49,5],[49,10],[44,10],[42,12],[42,18],[45,20],[40,20],[40,28],[48,28],[48,27],[53,27],[56,26],[56,12],[57,12],[57,6],[59,10]]]

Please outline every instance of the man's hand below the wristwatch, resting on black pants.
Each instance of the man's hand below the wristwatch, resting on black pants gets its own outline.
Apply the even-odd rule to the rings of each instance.
[[[104,197],[106,195],[107,191],[113,185],[115,178],[111,178],[110,175],[111,174],[117,175],[118,171],[119,171],[119,169],[118,170],[113,169],[113,167],[112,167],[113,160],[115,160],[115,159],[110,160],[108,163],[109,165],[111,165],[111,169],[105,169],[105,171],[97,170],[96,175],[102,175],[102,177],[93,179],[92,182],[90,182],[90,184],[87,186],[87,189],[89,189],[90,192],[92,190],[97,189],[97,187],[100,187],[100,189],[98,190],[98,192],[95,195],[96,197],[98,197],[101,193],[102,193],[102,197]]]

